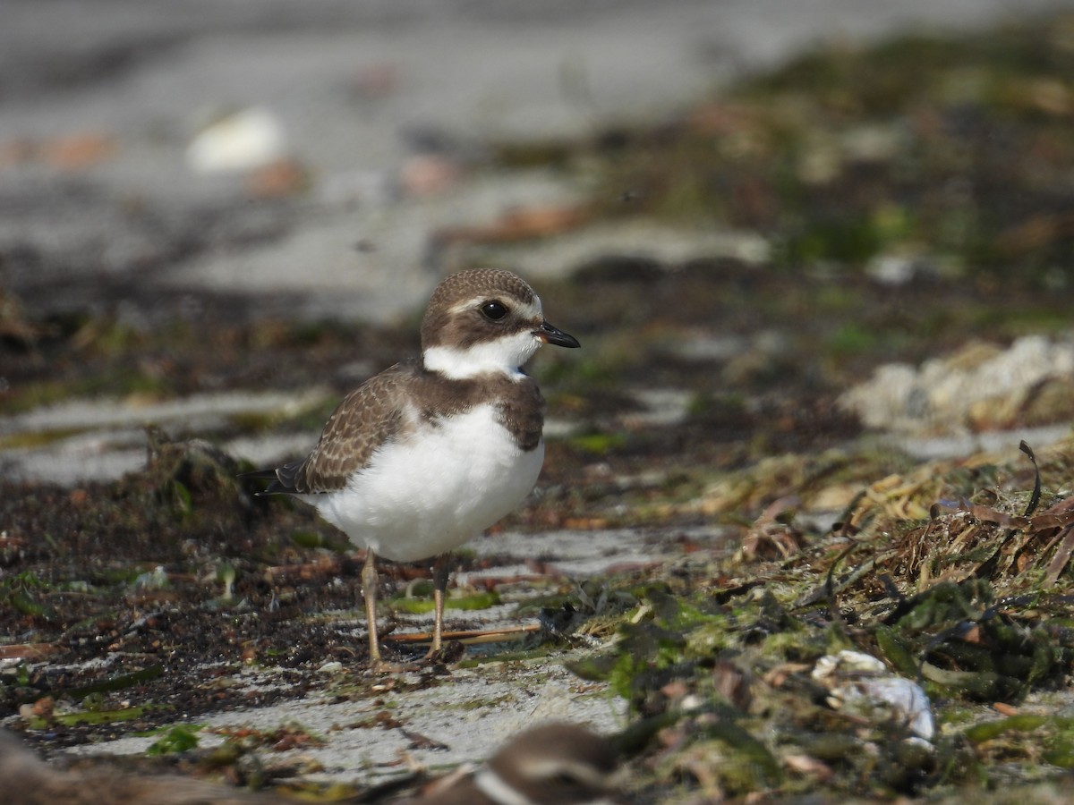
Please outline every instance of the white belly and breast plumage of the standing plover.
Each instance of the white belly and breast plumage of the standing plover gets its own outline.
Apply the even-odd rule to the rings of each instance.
[[[386,445],[346,489],[302,498],[355,544],[416,561],[458,547],[514,509],[543,460],[543,442],[524,452],[495,408],[479,406]]]

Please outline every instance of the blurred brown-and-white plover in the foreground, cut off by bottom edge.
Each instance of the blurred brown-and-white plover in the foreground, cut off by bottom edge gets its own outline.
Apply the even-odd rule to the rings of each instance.
[[[618,784],[612,745],[570,723],[520,733],[483,766],[434,781],[408,805],[609,803]]]

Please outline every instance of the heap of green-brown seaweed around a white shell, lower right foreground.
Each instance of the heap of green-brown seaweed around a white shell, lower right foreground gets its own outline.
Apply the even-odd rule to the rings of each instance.
[[[863,491],[825,533],[785,525],[779,548],[754,539],[633,580],[612,647],[574,670],[629,702],[622,740],[651,774],[644,795],[886,800],[1061,779],[1074,497],[1022,452],[1028,477],[927,465]],[[1072,459],[1068,441],[1044,464]],[[966,495],[1007,472],[1028,488]]]

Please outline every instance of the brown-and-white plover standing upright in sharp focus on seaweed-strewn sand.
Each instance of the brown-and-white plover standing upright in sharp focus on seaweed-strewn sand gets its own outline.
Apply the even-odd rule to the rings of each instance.
[[[545,400],[521,367],[542,343],[579,346],[545,321],[540,298],[521,278],[450,276],[429,301],[420,358],[347,395],[304,459],[251,473],[272,479],[260,494],[294,495],[366,548],[373,663],[380,662],[375,557],[437,557],[433,654],[444,631],[447,552],[533,489],[545,459]]]

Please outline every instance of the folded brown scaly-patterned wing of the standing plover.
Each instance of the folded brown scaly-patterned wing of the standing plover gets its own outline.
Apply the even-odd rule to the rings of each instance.
[[[401,433],[406,411],[404,382],[413,364],[396,364],[344,397],[305,459],[275,470],[266,493],[335,492],[365,467],[377,448]]]

